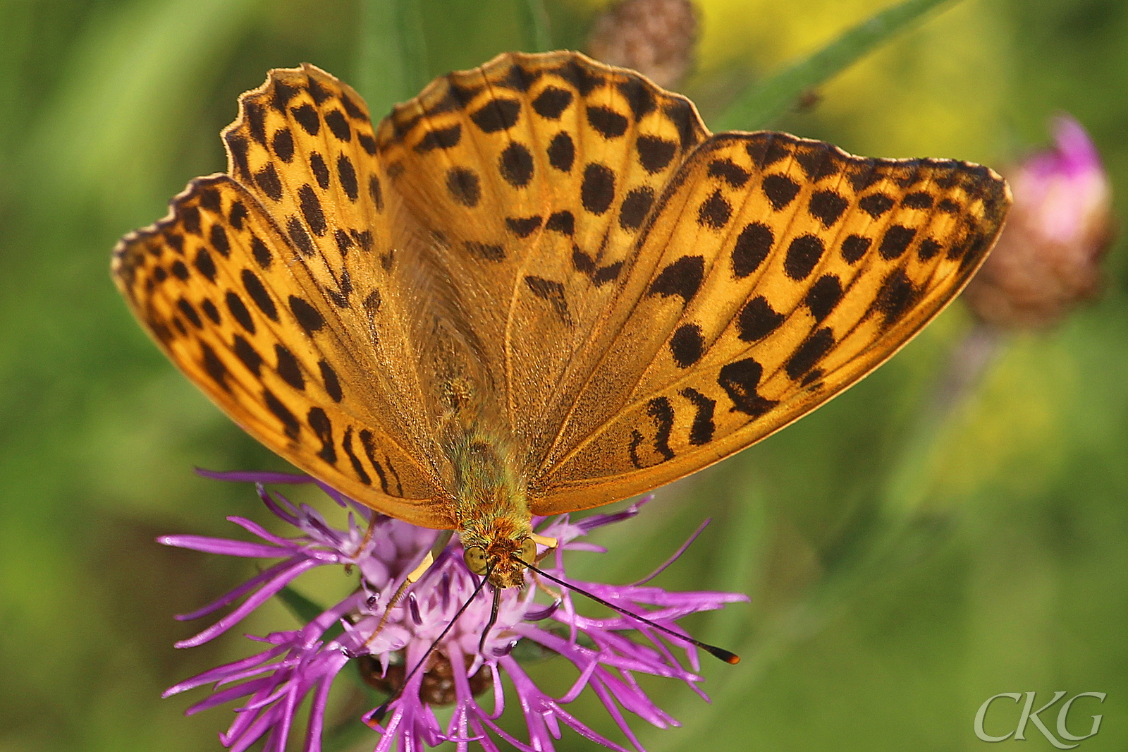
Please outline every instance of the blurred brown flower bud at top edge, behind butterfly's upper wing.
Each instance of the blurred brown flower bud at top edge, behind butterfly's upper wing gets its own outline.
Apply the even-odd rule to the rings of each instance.
[[[623,0],[596,21],[588,54],[673,88],[693,62],[697,15],[689,0]]]

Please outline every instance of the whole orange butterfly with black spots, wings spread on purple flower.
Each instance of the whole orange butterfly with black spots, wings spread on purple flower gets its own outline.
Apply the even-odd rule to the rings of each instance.
[[[712,134],[575,52],[506,53],[373,128],[303,64],[222,132],[228,172],[126,235],[114,279],[267,447],[523,584],[534,515],[696,472],[892,356],[1011,198],[986,167]]]

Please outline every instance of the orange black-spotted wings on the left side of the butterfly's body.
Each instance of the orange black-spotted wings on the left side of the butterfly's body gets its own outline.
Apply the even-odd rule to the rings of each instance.
[[[200,178],[123,239],[115,277],[166,352],[252,435],[397,517],[449,526],[420,408],[391,207],[355,94],[275,71]]]

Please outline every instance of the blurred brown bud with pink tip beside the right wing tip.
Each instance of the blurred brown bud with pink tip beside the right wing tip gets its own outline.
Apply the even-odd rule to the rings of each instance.
[[[1054,120],[1054,140],[1006,170],[1014,204],[964,292],[979,318],[1002,329],[1051,326],[1100,290],[1113,236],[1109,178],[1073,117]]]

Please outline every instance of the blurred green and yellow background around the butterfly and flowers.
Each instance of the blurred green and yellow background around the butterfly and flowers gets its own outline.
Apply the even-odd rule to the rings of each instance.
[[[193,465],[281,462],[149,342],[109,281],[109,250],[187,180],[223,169],[218,132],[272,67],[310,61],[367,81],[386,98],[370,103],[378,114],[426,78],[529,46],[512,0],[404,5],[422,28],[404,45],[418,63],[406,91],[365,69],[387,51],[361,53],[356,0],[0,1],[0,751],[218,750],[229,711],[184,718],[202,692],[161,690],[245,655],[241,632],[294,623],[275,604],[224,639],[171,647],[195,631],[174,613],[254,569],[153,537],[230,534],[229,514],[266,518],[252,489]],[[710,121],[887,2],[697,5],[697,64],[681,90]],[[553,44],[584,49],[605,3],[545,7]],[[1001,167],[1045,142],[1047,117],[1065,110],[1123,196],[1126,85],[1125,2],[967,0],[775,125],[856,154]],[[1055,690],[1108,693],[1101,732],[1081,750],[1128,745],[1122,246],[1105,268],[1101,300],[1006,339],[943,416],[931,410],[971,326],[959,304],[826,409],[660,491],[641,518],[606,531],[611,553],[576,558],[578,574],[599,566],[627,582],[713,516],[660,584],[752,598],[687,620],[746,659],[703,666],[712,706],[645,682],[686,724],[634,723],[649,749],[981,750],[972,719],[985,699],[1037,691],[1040,706]],[[341,587],[299,587],[318,597],[323,585]],[[554,666],[534,675],[552,685]],[[608,731],[590,700],[574,711]],[[1014,717],[1003,702],[993,714]],[[1074,733],[1093,707],[1078,702]],[[1026,735],[1020,749],[1051,749],[1032,725]],[[559,745],[589,747],[571,734]]]

